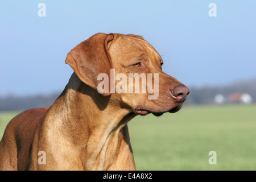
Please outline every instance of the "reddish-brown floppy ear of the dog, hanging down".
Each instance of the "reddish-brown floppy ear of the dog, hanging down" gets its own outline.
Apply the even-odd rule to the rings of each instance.
[[[112,68],[109,47],[114,34],[96,34],[73,48],[65,60],[85,84],[97,90],[101,80],[97,80],[100,73],[106,73],[110,82],[110,68]],[[110,86],[109,86],[110,87]],[[110,95],[102,93],[104,96]]]

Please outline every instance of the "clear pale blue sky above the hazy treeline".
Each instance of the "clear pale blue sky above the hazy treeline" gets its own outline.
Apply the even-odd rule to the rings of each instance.
[[[45,3],[46,16],[38,16]],[[210,17],[209,3],[217,16]],[[97,32],[142,35],[187,86],[256,77],[256,1],[2,1],[0,96],[63,90],[67,53]]]

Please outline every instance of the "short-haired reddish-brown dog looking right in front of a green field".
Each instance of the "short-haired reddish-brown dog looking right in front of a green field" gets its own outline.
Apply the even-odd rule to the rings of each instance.
[[[93,35],[73,48],[65,63],[75,72],[53,105],[24,111],[7,125],[0,143],[0,169],[136,169],[127,122],[138,114],[178,111],[188,88],[162,71],[161,57],[141,36]],[[159,84],[152,86],[158,89],[158,97],[148,99],[152,94],[133,93],[133,89],[113,92],[118,83],[113,87],[110,80],[105,80],[110,86],[105,84],[100,94],[101,73],[110,80],[118,80],[118,73],[127,77],[152,73],[151,80],[157,75]],[[125,85],[121,89],[128,90]]]

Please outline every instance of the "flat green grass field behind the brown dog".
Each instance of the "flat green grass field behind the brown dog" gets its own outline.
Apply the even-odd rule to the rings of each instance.
[[[0,138],[16,114],[0,113]],[[138,170],[256,170],[256,105],[184,106],[135,117],[129,132]]]

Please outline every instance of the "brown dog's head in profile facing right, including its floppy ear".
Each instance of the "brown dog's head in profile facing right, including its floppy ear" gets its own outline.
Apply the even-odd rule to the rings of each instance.
[[[180,110],[189,89],[162,71],[163,60],[141,36],[96,34],[68,53],[85,84],[136,114]]]

